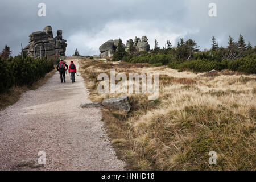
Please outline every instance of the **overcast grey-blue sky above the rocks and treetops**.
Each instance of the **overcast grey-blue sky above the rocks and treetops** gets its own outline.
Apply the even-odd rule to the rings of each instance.
[[[46,17],[38,16],[38,4],[46,4]],[[210,17],[209,3],[216,3],[217,17]],[[150,47],[157,39],[176,46],[180,38],[196,40],[201,49],[210,48],[214,35],[219,46],[228,36],[242,34],[256,44],[255,0],[1,0],[0,49],[11,47],[13,56],[28,44],[28,35],[51,25],[53,36],[63,30],[66,55],[77,48],[81,55],[98,55],[98,47],[109,39],[134,39],[146,35]]]

